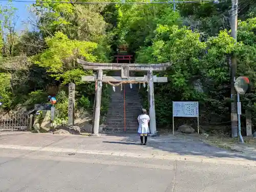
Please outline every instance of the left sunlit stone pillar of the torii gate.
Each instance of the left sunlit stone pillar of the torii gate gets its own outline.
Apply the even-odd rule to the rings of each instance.
[[[97,90],[95,93],[95,112],[93,117],[93,134],[99,134],[99,120],[100,120],[100,103],[101,103],[101,92],[102,92],[102,77],[103,71],[98,70],[97,76]]]

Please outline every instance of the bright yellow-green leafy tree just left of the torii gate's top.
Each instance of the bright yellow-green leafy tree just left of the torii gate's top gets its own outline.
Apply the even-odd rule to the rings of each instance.
[[[96,61],[92,52],[97,48],[95,42],[70,40],[67,35],[56,32],[53,37],[46,39],[48,49],[32,57],[32,61],[42,68],[46,68],[56,80],[63,84],[81,83],[81,76],[86,75],[76,58]],[[91,74],[89,72],[87,74]]]

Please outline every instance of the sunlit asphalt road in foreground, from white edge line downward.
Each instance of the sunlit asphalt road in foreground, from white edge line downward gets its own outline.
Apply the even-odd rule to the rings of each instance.
[[[255,181],[251,165],[0,149],[2,192],[253,192]]]

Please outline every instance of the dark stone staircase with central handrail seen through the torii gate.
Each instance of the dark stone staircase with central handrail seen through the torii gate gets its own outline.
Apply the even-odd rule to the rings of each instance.
[[[116,75],[116,76],[120,76]],[[138,93],[139,85],[123,84],[121,87],[116,87],[116,91],[112,92],[111,104],[106,121],[103,127],[103,132],[137,132],[138,120],[137,117],[141,114],[141,99]],[[125,95],[124,95],[125,92]],[[125,100],[124,100],[125,97]],[[125,103],[125,104],[124,104]],[[124,105],[125,105],[125,125],[124,125]]]

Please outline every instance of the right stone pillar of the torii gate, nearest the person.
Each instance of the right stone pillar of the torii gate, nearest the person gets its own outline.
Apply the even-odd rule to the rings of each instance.
[[[150,99],[150,133],[156,134],[156,111],[155,111],[155,96],[154,96],[154,80],[153,71],[148,71],[148,87]]]

